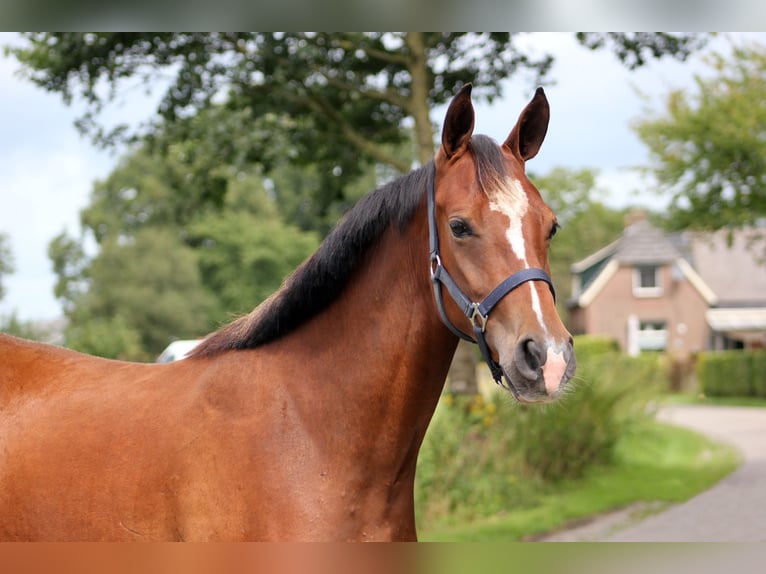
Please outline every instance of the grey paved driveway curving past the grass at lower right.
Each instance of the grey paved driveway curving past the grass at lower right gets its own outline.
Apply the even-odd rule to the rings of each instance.
[[[744,463],[710,490],[638,523],[617,513],[546,540],[766,541],[766,409],[672,406],[658,418],[735,445]]]

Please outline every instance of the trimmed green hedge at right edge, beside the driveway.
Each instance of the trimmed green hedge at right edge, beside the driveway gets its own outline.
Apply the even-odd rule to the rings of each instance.
[[[700,353],[697,377],[706,396],[766,398],[766,351]]]

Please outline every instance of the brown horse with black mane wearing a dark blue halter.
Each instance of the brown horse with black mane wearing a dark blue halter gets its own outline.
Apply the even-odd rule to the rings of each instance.
[[[575,370],[547,275],[556,218],[524,172],[547,100],[498,145],[472,136],[470,91],[432,162],[190,357],[0,337],[0,539],[415,539],[415,463],[457,337],[521,401]]]

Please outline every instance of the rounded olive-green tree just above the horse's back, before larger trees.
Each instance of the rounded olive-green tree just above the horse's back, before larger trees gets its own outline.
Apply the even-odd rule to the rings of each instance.
[[[204,335],[214,310],[194,252],[172,230],[151,227],[104,243],[88,267],[88,290],[72,305],[68,346],[135,359],[158,355],[174,339]],[[125,348],[102,340],[112,325]]]

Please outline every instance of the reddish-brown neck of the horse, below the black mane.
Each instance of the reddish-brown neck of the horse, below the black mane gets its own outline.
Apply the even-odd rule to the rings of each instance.
[[[385,232],[344,293],[285,343],[323,393],[382,413],[369,424],[424,433],[457,343],[434,305],[425,225]]]

